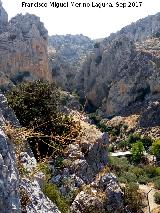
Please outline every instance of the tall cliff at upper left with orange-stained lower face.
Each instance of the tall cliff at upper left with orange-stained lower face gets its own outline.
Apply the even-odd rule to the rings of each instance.
[[[48,70],[47,30],[35,15],[19,14],[7,22],[0,6],[0,83],[51,79]],[[5,78],[6,77],[6,78]]]

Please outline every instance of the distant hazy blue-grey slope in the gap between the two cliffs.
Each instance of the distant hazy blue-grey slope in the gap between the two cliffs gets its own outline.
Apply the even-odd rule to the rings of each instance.
[[[94,42],[83,35],[49,37],[49,64],[53,78],[68,91],[75,90],[76,76],[93,49]]]

